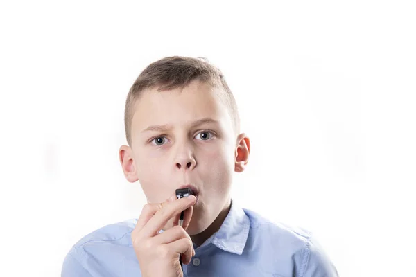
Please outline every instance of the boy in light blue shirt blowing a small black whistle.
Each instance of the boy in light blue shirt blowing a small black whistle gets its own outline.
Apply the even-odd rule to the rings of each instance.
[[[138,220],[77,242],[62,276],[338,276],[310,233],[231,199],[233,172],[243,172],[250,154],[239,131],[218,69],[190,57],[150,64],[128,93],[128,145],[119,150],[125,178],[139,181],[148,204]],[[177,188],[195,196],[177,199]]]

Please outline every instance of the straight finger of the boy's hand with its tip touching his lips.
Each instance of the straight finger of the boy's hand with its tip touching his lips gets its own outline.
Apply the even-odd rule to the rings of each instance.
[[[162,208],[159,209],[153,215],[146,225],[141,229],[141,232],[144,236],[153,237],[157,231],[162,229],[163,226],[175,215],[186,210],[196,202],[196,197],[194,195],[189,195],[188,197],[183,197],[175,200],[174,202],[164,203]]]

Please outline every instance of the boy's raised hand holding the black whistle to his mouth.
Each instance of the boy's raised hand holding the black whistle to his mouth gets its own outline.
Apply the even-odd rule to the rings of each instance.
[[[163,203],[146,204],[132,231],[133,248],[139,260],[141,276],[183,277],[179,257],[188,265],[195,255],[191,237],[185,231],[191,221],[196,197],[177,199],[173,195]],[[177,225],[184,211],[183,226]],[[173,227],[159,234],[169,220]]]

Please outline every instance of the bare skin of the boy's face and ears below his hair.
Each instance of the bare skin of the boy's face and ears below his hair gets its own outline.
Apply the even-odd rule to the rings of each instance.
[[[225,220],[234,172],[243,172],[250,154],[250,139],[236,134],[221,93],[199,81],[184,89],[143,91],[135,103],[132,143],[119,150],[125,178],[139,181],[149,204],[174,199],[183,185],[198,189],[193,211],[185,215],[191,215],[186,231],[198,246]]]

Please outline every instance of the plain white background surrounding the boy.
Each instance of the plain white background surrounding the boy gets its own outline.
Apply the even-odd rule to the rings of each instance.
[[[340,276],[413,274],[413,1],[147,2],[1,2],[0,276],[60,276],[80,238],[139,216],[124,101],[168,55],[234,91],[242,206],[313,231]]]

